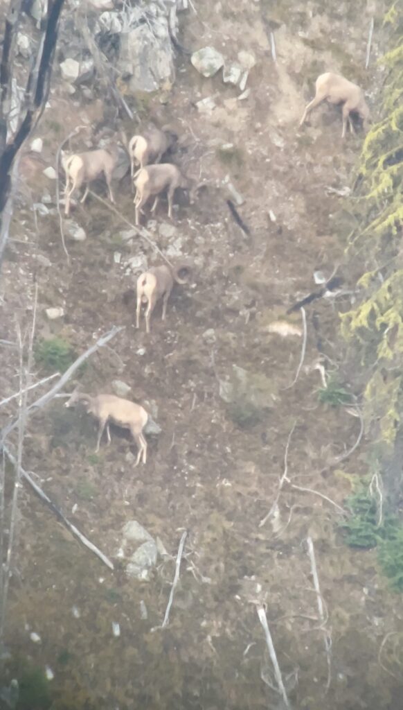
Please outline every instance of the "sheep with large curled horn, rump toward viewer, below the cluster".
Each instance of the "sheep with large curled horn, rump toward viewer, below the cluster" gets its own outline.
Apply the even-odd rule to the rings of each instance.
[[[165,320],[168,298],[175,281],[176,283],[187,282],[187,278],[180,277],[180,273],[185,271],[187,271],[186,266],[171,269],[169,266],[162,264],[162,266],[153,266],[153,268],[138,277],[136,328],[140,327],[141,306],[146,303],[145,330],[148,333],[150,332],[150,316],[160,298],[162,298],[162,320]]]

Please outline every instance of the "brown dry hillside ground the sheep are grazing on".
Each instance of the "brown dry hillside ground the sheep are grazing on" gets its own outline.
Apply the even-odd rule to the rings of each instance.
[[[175,209],[171,236],[160,231],[170,224],[164,201],[148,220],[159,249],[194,265],[190,283],[175,288],[165,323],[155,310],[150,335],[136,330],[134,301],[123,297],[140,273],[131,271],[130,258],[160,263],[140,236],[123,241],[128,226],[90,198],[85,209],[73,210],[87,239],[67,239],[69,263],[54,202],[50,214],[38,217],[37,231],[33,224],[28,187],[34,202],[44,190],[54,200],[54,183],[42,175],[43,167],[54,163],[58,143],[74,126],[101,119],[101,101],[67,97],[56,75],[51,109],[38,129],[45,138],[44,164],[32,155],[24,158],[0,286],[0,337],[15,342],[16,319],[32,319],[34,278],[37,338],[60,334],[79,353],[112,325],[123,325],[111,348],[99,351],[68,391],[79,381],[84,391],[111,392],[111,381],[121,379],[132,388],[130,398],[153,408],[162,434],[150,437],[147,464],[135,469],[136,449],[124,432],[114,429],[111,446],[103,442],[95,457],[94,423],[65,410],[62,400],[30,418],[23,465],[67,518],[114,559],[116,571],[80,547],[24,489],[9,648],[52,668],[57,708],[280,708],[280,696],[268,684],[274,682],[272,665],[256,613],[256,602],[264,601],[294,707],[392,710],[399,707],[401,684],[385,672],[378,653],[385,635],[398,628],[402,601],[377,574],[373,552],[343,545],[334,503],[343,506],[350,477],[365,471],[365,444],[340,470],[329,466],[353,445],[359,421],[343,408],[319,403],[321,378],[314,369],[320,357],[326,371],[346,377],[338,312],[348,309],[349,296],[307,306],[307,349],[293,386],[302,339],[267,332],[272,320],[284,318],[290,305],[316,288],[314,271],[329,277],[339,266],[345,290],[352,285],[343,256],[343,198],[328,188],[350,185],[362,133],[342,141],[340,110],[329,105],[316,109],[301,129],[299,119],[325,69],[371,89],[376,75],[363,70],[371,8],[363,2],[353,7],[285,1],[272,9],[265,0],[238,0],[234,8],[221,0],[196,9],[182,16],[185,46],[214,45],[230,60],[244,49],[257,63],[250,71],[250,94],[240,100],[220,75],[204,79],[186,56],[178,56],[169,97],[143,102],[142,120],[170,124],[181,136],[173,160],[205,183],[194,205],[181,200]],[[382,14],[382,8],[377,11]],[[378,38],[372,65],[381,50]],[[216,102],[211,113],[197,109],[205,97]],[[127,121],[125,128],[131,131]],[[228,153],[221,149],[226,143],[233,144]],[[80,146],[75,139],[72,149]],[[250,236],[226,204],[227,175],[245,198],[237,209]],[[96,190],[105,195],[102,185]],[[128,178],[116,194],[118,210],[133,222]],[[50,322],[45,309],[51,306],[63,307],[65,316]],[[302,326],[299,312],[287,318]],[[1,353],[4,397],[18,389],[18,361],[10,353]],[[265,416],[253,427],[238,427],[219,396],[219,381],[233,365],[272,382]],[[358,394],[359,371],[349,376]],[[1,423],[14,411],[12,404],[3,408]],[[291,483],[330,501],[288,483],[275,520],[259,525],[275,501],[287,441]],[[148,582],[127,579],[115,559],[123,525],[133,519],[159,536],[173,556],[159,560]],[[165,613],[183,530],[188,537],[170,626],[155,630]],[[324,625],[307,555],[309,536]],[[141,600],[147,619],[140,618]],[[121,627],[118,638],[113,622]],[[32,630],[40,635],[38,645],[29,640]],[[326,633],[331,677],[325,699]],[[387,645],[385,658],[389,668]]]

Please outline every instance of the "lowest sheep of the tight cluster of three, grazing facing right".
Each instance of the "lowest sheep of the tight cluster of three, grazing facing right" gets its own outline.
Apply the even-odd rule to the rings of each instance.
[[[190,189],[191,202],[197,187],[191,189],[192,180],[185,178],[176,165],[171,163],[160,163],[160,165],[148,165],[147,168],[141,168],[135,175],[134,186],[136,187],[136,197],[133,202],[136,207],[136,226],[139,224],[140,210],[147,202],[151,195],[156,195],[151,212],[154,212],[157,207],[160,193],[167,190],[168,195],[168,217],[172,219],[172,202],[174,192],[177,187]]]

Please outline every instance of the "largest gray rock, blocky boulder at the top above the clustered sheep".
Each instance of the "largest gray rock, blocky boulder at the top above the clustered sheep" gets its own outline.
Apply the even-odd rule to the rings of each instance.
[[[118,72],[128,79],[129,92],[156,91],[175,79],[174,53],[168,18],[162,6],[155,16],[121,34]]]

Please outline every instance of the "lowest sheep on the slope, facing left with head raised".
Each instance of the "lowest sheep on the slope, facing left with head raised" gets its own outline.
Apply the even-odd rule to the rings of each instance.
[[[65,407],[71,407],[78,402],[82,402],[87,412],[94,415],[99,421],[95,452],[99,452],[99,444],[105,426],[108,442],[109,444],[111,443],[108,423],[111,421],[123,429],[131,430],[131,435],[138,447],[135,466],[137,466],[141,457],[143,457],[143,464],[145,464],[147,459],[147,442],[143,434],[143,429],[148,422],[148,413],[143,407],[121,397],[115,397],[115,395],[95,395],[93,397],[92,395],[77,391],[72,393],[70,399],[65,403]]]

